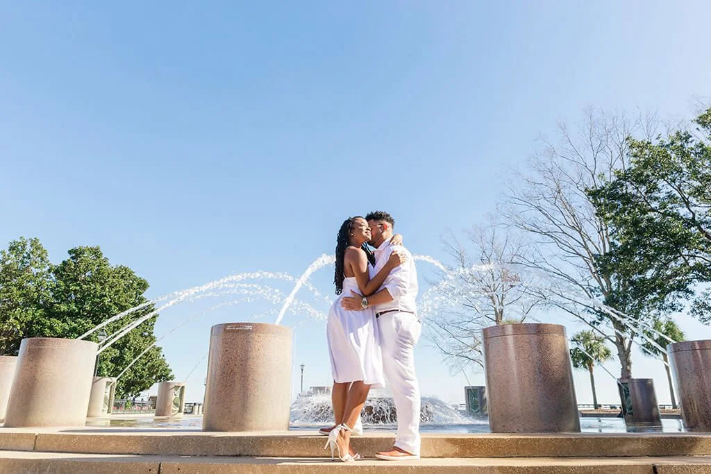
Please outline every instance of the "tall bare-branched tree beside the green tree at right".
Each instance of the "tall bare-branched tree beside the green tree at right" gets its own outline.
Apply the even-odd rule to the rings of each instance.
[[[503,212],[506,222],[533,242],[531,252],[518,258],[519,264],[545,279],[533,293],[593,326],[611,325],[614,335],[608,337],[616,347],[622,377],[631,377],[636,326],[600,311],[595,301],[602,297],[621,313],[633,311],[618,298],[630,282],[609,266],[599,265],[599,258],[614,242],[587,191],[611,181],[616,170],[628,166],[629,136],[651,137],[657,127],[656,116],[629,119],[593,109],[577,131],[559,125],[560,141],[543,139],[527,173],[516,173]]]

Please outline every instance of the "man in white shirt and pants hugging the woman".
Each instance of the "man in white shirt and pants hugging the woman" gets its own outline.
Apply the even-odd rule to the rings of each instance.
[[[368,298],[360,295],[343,297],[341,306],[358,311],[368,306],[375,309],[380,329],[385,380],[392,391],[397,410],[397,435],[390,451],[380,451],[376,458],[385,460],[419,459],[419,384],[415,375],[415,344],[422,326],[417,318],[417,271],[412,254],[405,247],[390,244],[395,220],[387,212],[370,212],[365,216],[370,225],[375,247],[375,271],[385,265],[393,250],[404,252],[404,264],[390,271],[380,290]],[[354,293],[355,294],[355,293]]]

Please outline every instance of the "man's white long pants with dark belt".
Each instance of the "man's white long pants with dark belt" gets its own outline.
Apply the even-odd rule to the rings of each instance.
[[[415,344],[422,326],[414,314],[387,313],[378,318],[385,381],[397,409],[395,446],[419,456],[419,384]]]

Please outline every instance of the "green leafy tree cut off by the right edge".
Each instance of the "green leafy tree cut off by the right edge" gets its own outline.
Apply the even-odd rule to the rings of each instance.
[[[592,192],[620,242],[658,269],[677,269],[684,289],[711,281],[711,108],[693,122],[695,131],[664,139],[630,138],[630,166]],[[703,292],[692,311],[705,323],[710,296]]]

